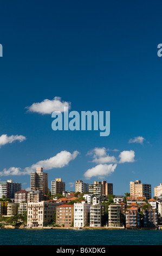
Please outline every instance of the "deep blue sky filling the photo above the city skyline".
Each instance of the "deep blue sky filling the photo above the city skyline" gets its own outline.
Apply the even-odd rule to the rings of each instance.
[[[29,188],[31,169],[50,159],[49,188],[55,178],[72,191],[77,179],[107,180],[119,195],[141,180],[154,196],[162,182],[160,7],[160,1],[1,3],[1,181]],[[55,97],[70,102],[70,111],[110,111],[110,135],[53,131],[51,114],[27,108]],[[128,143],[139,136],[143,143]],[[123,151],[134,156],[121,163]],[[101,179],[99,164],[115,167]],[[99,175],[87,180],[88,169]]]

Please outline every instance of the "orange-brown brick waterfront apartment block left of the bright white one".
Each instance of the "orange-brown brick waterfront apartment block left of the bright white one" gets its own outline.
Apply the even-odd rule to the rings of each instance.
[[[56,225],[69,228],[74,221],[74,205],[65,204],[56,207]]]

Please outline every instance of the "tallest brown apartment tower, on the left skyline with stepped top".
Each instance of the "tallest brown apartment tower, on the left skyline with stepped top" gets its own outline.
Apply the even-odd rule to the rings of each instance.
[[[48,173],[44,173],[43,168],[37,167],[36,172],[30,174],[30,190],[40,190],[43,194],[48,194]]]

